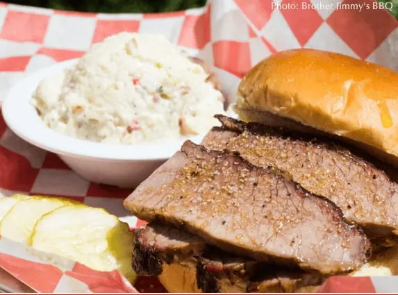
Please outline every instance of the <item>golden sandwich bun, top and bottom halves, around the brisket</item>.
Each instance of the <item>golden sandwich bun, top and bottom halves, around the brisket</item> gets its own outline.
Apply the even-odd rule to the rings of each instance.
[[[242,121],[322,133],[354,143],[398,167],[398,74],[338,53],[293,49],[276,53],[244,76],[233,107]],[[374,253],[347,276],[397,276],[398,246]],[[196,262],[163,264],[168,292],[201,293]],[[223,280],[219,292],[245,292]],[[293,287],[316,292],[319,286]],[[283,292],[276,282],[262,292]]]

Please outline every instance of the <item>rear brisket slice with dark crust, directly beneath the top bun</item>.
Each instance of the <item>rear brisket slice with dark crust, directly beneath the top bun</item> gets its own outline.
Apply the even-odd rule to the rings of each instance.
[[[398,184],[370,162],[330,140],[216,117],[223,126],[205,137],[208,149],[238,152],[253,165],[288,172],[304,189],[333,201],[372,238],[397,234]]]

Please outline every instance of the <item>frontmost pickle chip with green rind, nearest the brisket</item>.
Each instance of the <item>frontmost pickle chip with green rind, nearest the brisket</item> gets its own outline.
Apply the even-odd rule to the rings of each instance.
[[[98,271],[118,269],[129,281],[133,234],[128,225],[101,208],[70,205],[44,214],[35,224],[31,245],[71,258]]]

